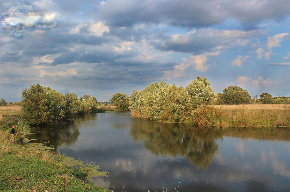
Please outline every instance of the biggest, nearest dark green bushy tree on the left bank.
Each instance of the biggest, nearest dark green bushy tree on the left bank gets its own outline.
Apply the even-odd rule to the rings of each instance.
[[[21,109],[30,124],[51,123],[65,117],[64,96],[50,87],[31,85],[23,89]]]

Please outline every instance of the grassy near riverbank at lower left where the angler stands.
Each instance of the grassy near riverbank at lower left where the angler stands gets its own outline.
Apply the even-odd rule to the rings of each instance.
[[[99,171],[96,166],[86,166],[63,154],[44,150],[47,147],[41,144],[27,144],[22,135],[16,136],[16,142],[13,142],[10,124],[20,125],[16,129],[19,134],[28,134],[27,124],[21,119],[15,119],[15,116],[10,119],[1,116],[0,123],[1,191],[110,191],[94,186],[85,179],[89,176],[108,176],[106,171]]]

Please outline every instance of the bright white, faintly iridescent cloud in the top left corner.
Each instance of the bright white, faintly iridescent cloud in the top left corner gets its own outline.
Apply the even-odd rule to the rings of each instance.
[[[57,26],[62,15],[51,8],[51,0],[34,3],[27,1],[13,1],[6,3],[6,10],[1,19],[2,29],[14,36],[21,36],[25,30],[49,30]]]

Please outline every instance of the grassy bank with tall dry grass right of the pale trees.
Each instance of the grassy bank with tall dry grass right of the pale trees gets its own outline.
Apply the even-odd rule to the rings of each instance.
[[[290,104],[214,105],[221,114],[214,125],[290,127]]]

